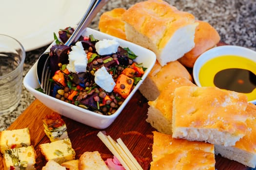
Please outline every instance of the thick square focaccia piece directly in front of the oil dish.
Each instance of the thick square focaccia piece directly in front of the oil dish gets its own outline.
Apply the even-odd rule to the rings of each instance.
[[[247,97],[217,87],[181,86],[173,100],[173,137],[235,145],[246,132]]]

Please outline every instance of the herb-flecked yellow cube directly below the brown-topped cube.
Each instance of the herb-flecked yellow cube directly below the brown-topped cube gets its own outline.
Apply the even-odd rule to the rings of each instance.
[[[39,148],[47,161],[54,160],[59,164],[73,160],[76,156],[69,138],[40,144]]]

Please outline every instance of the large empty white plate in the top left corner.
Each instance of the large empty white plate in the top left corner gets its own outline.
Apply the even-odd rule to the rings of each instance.
[[[90,0],[4,0],[0,5],[0,34],[10,35],[26,51],[53,42],[53,33],[78,24]]]

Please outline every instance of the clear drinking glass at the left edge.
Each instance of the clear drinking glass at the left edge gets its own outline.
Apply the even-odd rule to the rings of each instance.
[[[24,60],[20,42],[0,34],[0,114],[12,112],[20,102]]]

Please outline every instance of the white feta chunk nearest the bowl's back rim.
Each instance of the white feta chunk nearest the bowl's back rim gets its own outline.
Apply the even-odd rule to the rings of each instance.
[[[95,44],[95,49],[99,55],[109,55],[118,51],[119,43],[116,39],[103,39]]]

